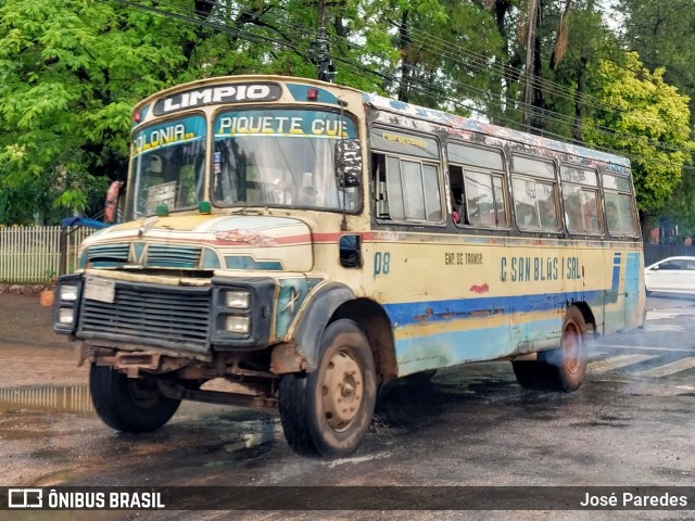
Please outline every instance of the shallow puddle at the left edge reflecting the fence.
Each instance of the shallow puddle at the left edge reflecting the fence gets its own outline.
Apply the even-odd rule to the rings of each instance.
[[[0,389],[0,407],[22,405],[38,410],[96,414],[87,385]]]

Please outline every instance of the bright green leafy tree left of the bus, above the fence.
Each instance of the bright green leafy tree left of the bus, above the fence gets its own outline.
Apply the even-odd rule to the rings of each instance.
[[[23,208],[56,218],[103,199],[109,178],[125,171],[132,103],[180,73],[191,36],[170,21],[87,0],[3,2],[3,220],[30,220]]]

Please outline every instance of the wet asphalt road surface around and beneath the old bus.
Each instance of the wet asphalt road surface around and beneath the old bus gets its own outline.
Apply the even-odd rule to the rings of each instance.
[[[650,297],[646,328],[591,347],[571,395],[522,390],[510,364],[399,386],[361,449],[294,455],[275,411],[185,403],[155,433],[91,411],[85,368],[38,298],[0,294],[0,486],[695,485],[695,300]],[[338,491],[337,494],[340,492]],[[0,519],[10,512],[0,511]],[[694,519],[695,510],[11,512],[7,519]]]

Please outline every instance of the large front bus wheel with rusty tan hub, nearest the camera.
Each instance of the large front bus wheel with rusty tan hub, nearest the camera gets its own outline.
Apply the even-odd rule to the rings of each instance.
[[[316,370],[280,378],[285,437],[302,455],[348,456],[367,433],[376,396],[367,338],[352,320],[331,322],[321,336]]]

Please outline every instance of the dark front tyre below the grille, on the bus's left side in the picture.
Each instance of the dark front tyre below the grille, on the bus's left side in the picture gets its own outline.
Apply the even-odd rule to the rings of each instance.
[[[101,420],[131,434],[157,430],[172,419],[181,403],[164,396],[153,378],[128,378],[96,364],[89,371],[89,392]]]

